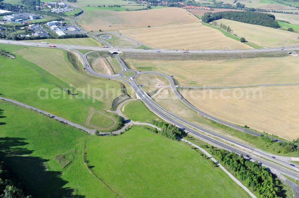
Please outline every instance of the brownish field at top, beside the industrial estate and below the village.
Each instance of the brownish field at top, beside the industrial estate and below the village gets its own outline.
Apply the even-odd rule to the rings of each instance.
[[[187,24],[198,19],[181,8],[161,8],[131,12],[96,10],[84,13],[78,23],[88,31],[113,31],[147,26],[164,26],[170,24]]]

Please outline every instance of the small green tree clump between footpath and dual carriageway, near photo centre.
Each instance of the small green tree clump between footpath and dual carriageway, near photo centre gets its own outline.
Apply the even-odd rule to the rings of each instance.
[[[176,136],[183,137],[185,133],[173,124],[168,124],[164,121],[152,120],[152,124],[161,128],[161,131],[156,130],[160,135],[176,140]]]

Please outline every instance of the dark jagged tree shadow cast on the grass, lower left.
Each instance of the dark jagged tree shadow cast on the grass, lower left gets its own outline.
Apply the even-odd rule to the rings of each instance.
[[[34,151],[24,147],[28,144],[25,140],[0,138],[0,157],[18,175],[27,195],[43,198],[85,197],[77,195],[72,188],[64,187],[68,182],[61,179],[62,172],[49,171],[45,163],[47,159],[28,156]]]

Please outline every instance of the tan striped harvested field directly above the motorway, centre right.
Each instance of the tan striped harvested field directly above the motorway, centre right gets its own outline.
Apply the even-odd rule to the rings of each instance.
[[[160,9],[161,10],[161,9]],[[202,23],[123,29],[123,35],[160,49],[250,49]]]

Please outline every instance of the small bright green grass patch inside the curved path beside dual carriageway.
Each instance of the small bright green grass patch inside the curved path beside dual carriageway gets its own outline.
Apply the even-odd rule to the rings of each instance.
[[[141,100],[128,102],[121,109],[124,116],[132,121],[151,123],[152,120],[159,120],[159,117],[152,113]]]

